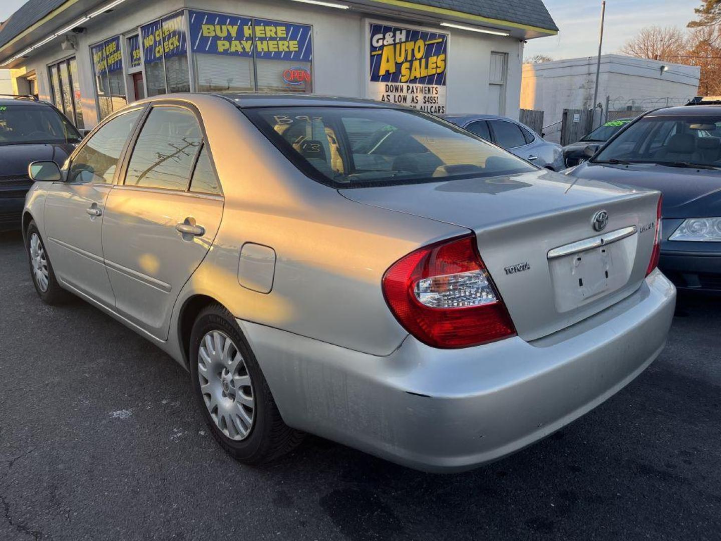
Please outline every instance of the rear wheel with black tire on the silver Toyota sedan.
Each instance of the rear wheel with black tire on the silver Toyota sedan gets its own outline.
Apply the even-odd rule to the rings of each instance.
[[[213,438],[236,460],[267,462],[301,443],[304,434],[283,423],[255,355],[221,304],[195,320],[190,379]]]

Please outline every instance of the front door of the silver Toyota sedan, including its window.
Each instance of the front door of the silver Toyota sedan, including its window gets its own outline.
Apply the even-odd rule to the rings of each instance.
[[[109,307],[115,305],[102,252],[102,220],[120,157],[142,108],[100,126],[65,165],[65,182],[45,197],[45,236],[53,270],[64,283]]]

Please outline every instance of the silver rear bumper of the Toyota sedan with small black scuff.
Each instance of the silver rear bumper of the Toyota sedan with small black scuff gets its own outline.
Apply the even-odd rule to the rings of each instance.
[[[663,349],[676,290],[660,272],[531,343],[459,350],[412,337],[377,357],[239,321],[291,426],[420,470],[469,470],[595,408]]]

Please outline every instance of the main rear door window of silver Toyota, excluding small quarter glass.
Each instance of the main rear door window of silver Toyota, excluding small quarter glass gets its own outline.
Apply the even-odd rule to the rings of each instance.
[[[133,149],[125,185],[187,190],[201,141],[203,133],[190,110],[154,107]]]

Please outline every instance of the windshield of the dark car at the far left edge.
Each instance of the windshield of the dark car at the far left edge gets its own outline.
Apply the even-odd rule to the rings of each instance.
[[[0,145],[79,143],[81,138],[53,107],[0,105]]]

